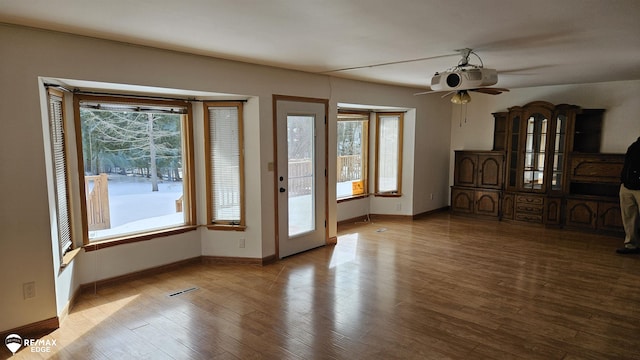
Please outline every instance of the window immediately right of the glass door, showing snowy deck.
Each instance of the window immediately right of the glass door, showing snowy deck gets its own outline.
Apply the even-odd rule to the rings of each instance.
[[[366,195],[369,149],[369,114],[338,114],[338,200]]]

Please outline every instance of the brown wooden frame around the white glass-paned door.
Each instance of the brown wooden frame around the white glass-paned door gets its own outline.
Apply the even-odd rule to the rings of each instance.
[[[273,199],[275,210],[275,249],[276,259],[280,259],[280,215],[278,214],[278,101],[293,101],[293,102],[308,102],[324,104],[324,243],[329,245],[329,99],[310,98],[301,96],[290,95],[277,95],[272,96],[272,111],[273,111]]]

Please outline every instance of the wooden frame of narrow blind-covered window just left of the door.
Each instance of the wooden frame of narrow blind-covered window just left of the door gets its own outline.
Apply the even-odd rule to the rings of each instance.
[[[235,107],[238,110],[238,147],[239,147],[239,181],[240,181],[240,219],[233,220],[213,220],[215,209],[213,202],[213,150],[211,148],[211,123],[209,108],[215,107]],[[245,211],[245,170],[244,170],[244,115],[242,101],[208,101],[203,103],[204,112],[204,147],[206,162],[206,194],[207,194],[207,228],[209,230],[234,230],[244,231],[246,229]]]

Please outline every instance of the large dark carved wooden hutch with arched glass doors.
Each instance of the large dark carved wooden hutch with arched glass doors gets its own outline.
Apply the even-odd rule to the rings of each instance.
[[[623,232],[624,154],[600,153],[603,114],[544,101],[494,113],[493,150],[455,152],[452,212]]]

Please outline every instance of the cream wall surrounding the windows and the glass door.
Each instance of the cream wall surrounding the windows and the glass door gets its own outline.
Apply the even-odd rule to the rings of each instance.
[[[329,99],[329,183],[335,183],[336,114],[338,102],[389,105],[415,109],[414,124],[405,133],[407,188],[403,210],[423,212],[446,199],[417,199],[442,191],[446,176],[430,167],[449,161],[450,107],[437,95],[414,97],[418,89],[332,79],[245,63],[212,59],[88,37],[0,24],[0,331],[57,316],[80,284],[123,275],[194,256],[264,258],[275,253],[272,95]],[[60,270],[50,212],[51,164],[44,149],[42,86],[39,77],[98,81],[150,87],[246,95],[245,159],[247,167],[247,230],[185,234],[81,252]],[[194,112],[194,118],[201,110]],[[204,222],[201,120],[195,123],[198,219]],[[419,134],[418,134],[419,133]],[[430,145],[423,144],[430,142]],[[414,149],[432,150],[414,158]],[[70,160],[74,164],[73,160]],[[198,164],[200,166],[198,166]],[[73,166],[73,165],[72,165]],[[77,168],[77,165],[76,165]],[[49,180],[48,180],[49,179]],[[77,185],[76,180],[71,180]],[[415,186],[412,186],[415,185]],[[73,199],[79,203],[79,199]],[[392,200],[395,201],[395,200]],[[329,236],[336,235],[335,186],[329,187]],[[406,204],[406,207],[404,206]],[[415,204],[419,204],[416,206]],[[384,199],[379,209],[389,206]],[[392,209],[395,209],[391,205]],[[77,214],[75,214],[77,217]],[[77,226],[77,222],[76,222]],[[239,249],[237,239],[246,238]],[[36,282],[36,297],[24,300],[22,284]]]

